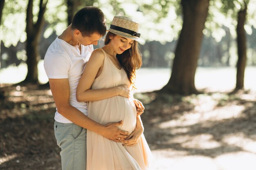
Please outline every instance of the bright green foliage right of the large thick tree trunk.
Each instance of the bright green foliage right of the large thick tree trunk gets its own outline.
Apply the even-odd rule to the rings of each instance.
[[[252,26],[256,28],[256,0],[211,0],[209,15],[205,23],[204,35],[213,36],[217,42],[225,37],[223,26],[229,28],[233,38],[236,38],[237,13],[247,4],[247,23],[245,31],[252,34]]]

